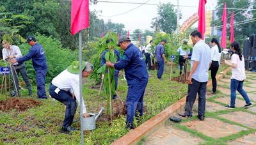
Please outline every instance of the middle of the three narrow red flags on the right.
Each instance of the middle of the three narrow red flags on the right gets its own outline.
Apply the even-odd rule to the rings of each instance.
[[[227,3],[225,3],[224,9],[223,9],[223,14],[222,14],[222,22],[223,22],[223,27],[222,27],[222,34],[221,34],[221,47],[223,49],[226,49],[226,41],[227,41]]]

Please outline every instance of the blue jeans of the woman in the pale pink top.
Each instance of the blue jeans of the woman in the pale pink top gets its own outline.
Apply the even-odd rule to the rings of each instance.
[[[236,91],[238,91],[243,96],[246,104],[250,103],[250,99],[249,99],[247,93],[243,89],[243,84],[244,84],[244,80],[239,81],[236,79],[231,79],[231,82],[230,82],[230,91],[231,91],[230,106],[236,105]]]

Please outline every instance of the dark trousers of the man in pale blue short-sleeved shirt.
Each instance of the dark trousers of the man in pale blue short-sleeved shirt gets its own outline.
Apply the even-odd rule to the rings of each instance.
[[[198,82],[195,79],[191,80],[193,84],[188,85],[188,95],[186,98],[186,115],[191,116],[193,114],[193,105],[196,100],[196,94],[198,93],[198,115],[204,116],[205,114],[205,94],[207,82]]]

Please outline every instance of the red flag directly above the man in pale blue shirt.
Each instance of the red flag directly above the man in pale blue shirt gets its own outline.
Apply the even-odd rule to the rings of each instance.
[[[198,31],[202,34],[202,39],[204,40],[205,33],[205,4],[206,0],[200,0],[198,6]]]

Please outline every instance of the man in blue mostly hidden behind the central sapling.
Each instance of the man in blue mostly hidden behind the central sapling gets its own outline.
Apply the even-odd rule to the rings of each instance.
[[[113,42],[112,39],[111,39],[111,42]],[[106,43],[109,43],[109,40],[107,40]],[[111,46],[111,48],[109,48],[109,49],[114,49],[114,47]],[[101,66],[103,66],[106,63],[105,54],[106,54],[107,51],[109,51],[109,49],[105,50],[102,53],[101,63],[100,63]],[[116,56],[116,62],[120,61],[120,52],[116,49],[114,49],[114,52],[115,52],[115,56]],[[118,75],[120,75],[121,73],[122,73],[121,71],[115,70],[115,90],[117,89]],[[115,99],[115,98],[116,98],[116,94],[113,95],[113,99]]]

